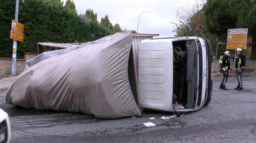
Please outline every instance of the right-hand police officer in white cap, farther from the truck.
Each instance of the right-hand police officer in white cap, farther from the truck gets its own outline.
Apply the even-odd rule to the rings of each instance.
[[[242,51],[242,49],[237,48],[237,61],[236,61],[236,69],[237,69],[237,80],[238,80],[238,86],[234,89],[236,90],[243,90],[243,82],[242,82],[242,76],[245,69],[245,55]]]

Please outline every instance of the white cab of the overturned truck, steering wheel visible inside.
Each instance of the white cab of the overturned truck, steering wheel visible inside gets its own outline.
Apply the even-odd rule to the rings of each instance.
[[[141,41],[138,53],[141,108],[187,112],[210,103],[213,62],[209,40],[146,39]]]

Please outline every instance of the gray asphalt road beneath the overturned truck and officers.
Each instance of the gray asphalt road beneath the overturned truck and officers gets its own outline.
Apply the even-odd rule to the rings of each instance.
[[[100,120],[84,114],[25,110],[5,103],[7,89],[0,90],[0,108],[10,116],[11,143],[255,143],[256,77],[243,78],[244,90],[237,91],[236,78],[220,90],[221,78],[214,77],[211,103],[182,117],[146,111],[141,117]],[[150,117],[155,117],[150,120]],[[154,127],[143,123],[152,122]]]

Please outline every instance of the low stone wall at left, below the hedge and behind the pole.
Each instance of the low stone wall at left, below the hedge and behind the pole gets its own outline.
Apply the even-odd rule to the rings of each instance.
[[[24,59],[17,59],[16,74],[25,70],[25,62],[37,56],[36,53],[24,52]],[[0,57],[0,76],[10,75],[12,73],[12,58]]]

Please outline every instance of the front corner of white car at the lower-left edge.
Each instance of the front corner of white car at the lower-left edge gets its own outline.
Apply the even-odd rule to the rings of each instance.
[[[0,143],[9,143],[11,139],[11,125],[9,115],[0,108]]]

